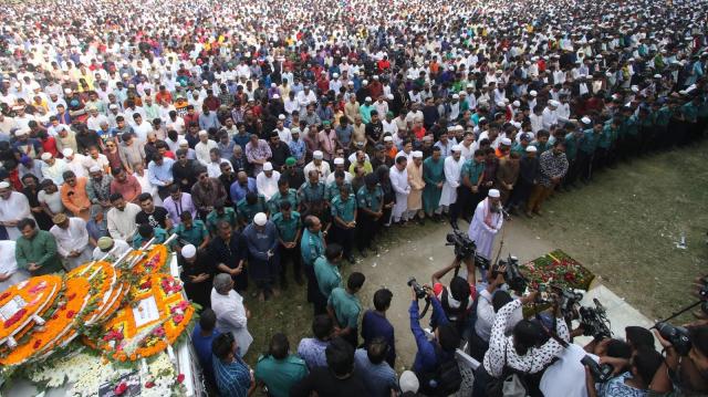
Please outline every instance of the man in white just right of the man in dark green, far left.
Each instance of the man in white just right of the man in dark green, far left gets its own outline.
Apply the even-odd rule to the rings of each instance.
[[[52,218],[54,226],[49,230],[56,239],[56,251],[62,257],[66,270],[79,268],[92,260],[86,222],[81,218],[58,213]]]

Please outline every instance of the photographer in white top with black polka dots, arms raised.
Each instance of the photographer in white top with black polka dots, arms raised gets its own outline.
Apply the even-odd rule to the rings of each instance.
[[[538,322],[521,320],[513,326],[510,336],[506,336],[507,324],[513,312],[525,303],[533,302],[538,292],[532,292],[519,300],[503,305],[494,316],[489,338],[489,349],[485,353],[482,365],[475,372],[472,397],[496,397],[503,395],[502,389],[513,384],[524,387],[530,375],[543,370],[563,346],[556,341],[570,341],[568,325],[563,320],[560,305],[553,305],[555,327],[550,333],[554,336],[545,343],[546,333]],[[558,301],[556,301],[558,302]]]

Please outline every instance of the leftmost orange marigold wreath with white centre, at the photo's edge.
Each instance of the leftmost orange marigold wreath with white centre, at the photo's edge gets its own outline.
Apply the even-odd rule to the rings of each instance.
[[[49,309],[56,299],[61,285],[62,279],[59,275],[48,274],[14,284],[0,295],[0,307],[15,296],[27,302],[27,305],[7,321],[0,320],[0,343],[4,343],[9,336],[27,328],[33,315],[41,315],[43,311]]]

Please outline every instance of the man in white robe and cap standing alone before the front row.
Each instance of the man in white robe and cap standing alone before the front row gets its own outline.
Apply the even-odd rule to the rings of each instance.
[[[475,241],[477,253],[491,260],[491,250],[494,247],[494,238],[503,223],[499,190],[489,189],[489,195],[481,200],[475,209],[472,222],[469,224],[469,239]]]

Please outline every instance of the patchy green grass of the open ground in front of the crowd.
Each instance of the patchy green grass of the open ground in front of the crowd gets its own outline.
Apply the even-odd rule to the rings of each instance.
[[[516,221],[579,260],[649,318],[666,317],[693,302],[691,280],[708,274],[706,165],[708,142],[621,164],[596,175],[582,189],[555,195],[544,205],[543,217]],[[446,226],[420,228],[420,244],[429,243],[426,231],[439,228]],[[676,247],[681,234],[685,250]],[[393,248],[406,240],[409,234],[392,230],[382,245]],[[343,273],[347,271],[345,267]],[[365,307],[369,305],[368,297],[362,301]],[[247,296],[247,302],[253,313],[249,328],[256,338],[246,357],[250,364],[277,332],[289,336],[293,351],[300,338],[310,335],[312,309],[304,288],[291,283],[277,300],[259,303]]]

